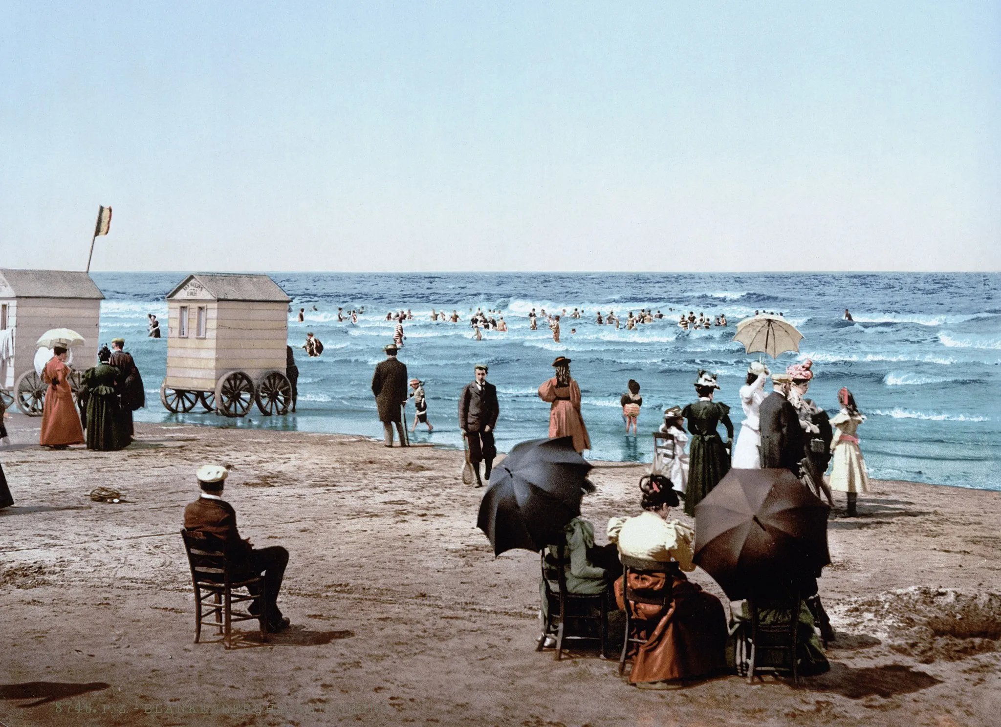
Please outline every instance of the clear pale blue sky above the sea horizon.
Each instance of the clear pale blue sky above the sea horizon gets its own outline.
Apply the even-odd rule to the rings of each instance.
[[[0,11],[0,267],[1001,269],[996,0]]]

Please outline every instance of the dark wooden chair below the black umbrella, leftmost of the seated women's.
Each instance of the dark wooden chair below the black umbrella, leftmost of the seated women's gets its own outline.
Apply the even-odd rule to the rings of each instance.
[[[609,592],[606,589],[598,594],[579,594],[567,591],[567,557],[566,546],[551,545],[542,552],[543,588],[547,600],[547,618],[543,624],[543,633],[539,637],[536,651],[542,651],[546,645],[546,637],[556,638],[556,660],[563,658],[565,640],[591,640],[594,636],[567,633],[567,624],[599,623],[600,636],[597,639],[602,644],[602,657],[608,656],[609,638]],[[556,584],[556,588],[553,585]],[[595,609],[599,615],[594,615]]]

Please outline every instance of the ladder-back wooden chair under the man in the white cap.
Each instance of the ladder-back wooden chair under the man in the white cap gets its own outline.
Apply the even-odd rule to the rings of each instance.
[[[220,538],[181,528],[181,539],[184,541],[188,565],[191,567],[191,583],[194,586],[194,642],[197,644],[201,638],[203,625],[215,626],[222,635],[222,645],[230,649],[233,646],[234,623],[251,619],[259,619],[261,624],[267,623],[264,578],[257,575],[234,579],[233,568],[226,557],[225,544]],[[259,596],[251,592],[251,586],[259,589]],[[211,603],[208,603],[209,599]],[[259,615],[233,608],[234,605],[254,599],[259,599]],[[263,625],[260,627],[260,636],[262,641],[267,640],[267,631]]]

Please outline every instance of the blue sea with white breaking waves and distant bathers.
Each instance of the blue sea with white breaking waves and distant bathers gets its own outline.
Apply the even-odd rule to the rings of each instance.
[[[537,394],[553,376],[557,356],[572,359],[581,386],[582,411],[591,434],[593,460],[650,462],[652,433],[663,411],[693,401],[700,368],[719,376],[717,400],[731,406],[737,430],[743,420],[738,390],[747,354],[733,340],[737,323],[756,310],[782,313],[803,334],[799,352],[766,363],[785,367],[814,362],[808,397],[832,416],[837,392],[847,386],[866,415],[859,429],[869,471],[881,479],[905,479],[959,487],[1001,489],[1001,274],[998,273],[269,273],[289,295],[288,342],[302,345],[312,332],[324,345],[308,358],[294,349],[299,367],[298,411],[243,419],[214,414],[171,414],[160,403],[168,340],[146,336],[147,313],[166,334],[164,296],[183,272],[93,273],[106,299],[101,340],[121,336],[135,358],[147,391],[138,421],[337,432],[381,436],[370,384],[384,358],[395,324],[389,311],[409,310],[399,359],[409,376],[423,381],[428,432],[418,425],[412,441],[461,447],[457,399],[473,377],[489,367],[497,387],[502,451],[545,437],[549,404]],[[337,308],[364,312],[356,324],[337,321]],[[296,314],[305,308],[305,320]],[[456,310],[457,324],[431,322],[430,311]],[[475,340],[468,320],[481,308],[497,311],[509,331],[489,330]],[[562,316],[562,341],[545,324],[529,327],[528,314],[546,309]],[[575,308],[580,319],[564,315]],[[627,330],[598,325],[614,310],[626,320],[641,308],[665,317]],[[845,320],[851,311],[853,321]],[[684,331],[681,312],[726,314],[730,325]],[[644,398],[640,435],[625,433],[620,396],[630,379]],[[412,418],[412,405],[407,417]],[[721,427],[722,431],[722,427]]]

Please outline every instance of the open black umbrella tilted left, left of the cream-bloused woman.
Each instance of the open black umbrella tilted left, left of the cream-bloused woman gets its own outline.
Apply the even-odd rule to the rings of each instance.
[[[563,527],[581,514],[584,491],[594,488],[590,470],[572,437],[515,445],[493,468],[479,503],[476,525],[490,539],[493,554],[539,551],[557,542]]]

